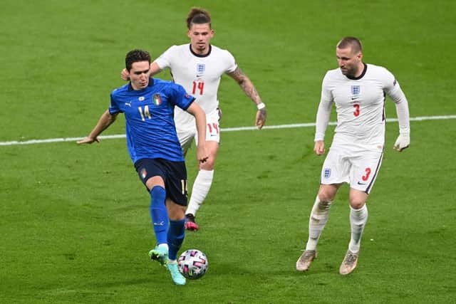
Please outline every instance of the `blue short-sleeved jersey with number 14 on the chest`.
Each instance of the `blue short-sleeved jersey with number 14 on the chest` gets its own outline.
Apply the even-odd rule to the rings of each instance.
[[[109,112],[125,115],[127,147],[133,163],[142,158],[184,161],[174,108],[177,105],[187,110],[194,100],[181,85],[157,78],[150,78],[142,90],[133,90],[130,83],[113,90]]]

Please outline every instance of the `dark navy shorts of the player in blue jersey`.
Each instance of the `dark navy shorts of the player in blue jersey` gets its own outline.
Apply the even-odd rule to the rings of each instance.
[[[143,158],[135,162],[135,168],[143,184],[151,177],[162,177],[165,182],[166,197],[176,204],[187,206],[187,169],[185,162],[171,162],[162,158]]]

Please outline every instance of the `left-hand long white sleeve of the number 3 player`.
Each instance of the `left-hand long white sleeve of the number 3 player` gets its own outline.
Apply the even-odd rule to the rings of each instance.
[[[328,127],[329,119],[331,117],[333,95],[329,89],[328,78],[328,73],[326,73],[321,85],[320,104],[318,105],[318,110],[316,112],[315,141],[324,140],[326,128]]]

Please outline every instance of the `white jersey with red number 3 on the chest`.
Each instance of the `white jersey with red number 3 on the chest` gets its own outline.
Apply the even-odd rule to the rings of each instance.
[[[328,70],[323,78],[315,140],[323,140],[335,103],[337,126],[333,142],[343,139],[353,145],[383,146],[385,94],[395,103],[407,103],[399,83],[383,67],[365,63],[358,78],[348,78],[340,68]]]

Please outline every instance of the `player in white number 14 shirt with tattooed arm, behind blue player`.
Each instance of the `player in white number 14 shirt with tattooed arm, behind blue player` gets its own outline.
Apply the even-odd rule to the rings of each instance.
[[[192,8],[187,16],[187,28],[190,43],[168,48],[152,63],[150,73],[155,75],[161,70],[169,68],[175,83],[179,83],[187,92],[195,95],[197,103],[207,115],[205,140],[210,157],[207,162],[199,164],[199,172],[193,184],[190,203],[186,211],[185,228],[197,231],[199,227],[195,222],[195,216],[212,185],[214,165],[219,149],[221,112],[217,91],[220,78],[225,73],[232,77],[257,106],[255,125],[259,129],[266,122],[266,105],[261,102],[252,81],[239,68],[232,54],[210,44],[214,30],[207,11]],[[122,78],[127,79],[125,70],[123,70]],[[179,108],[175,110],[175,122],[182,150],[184,154],[187,154],[192,141],[195,139],[199,142],[202,134],[195,129],[194,118]]]

